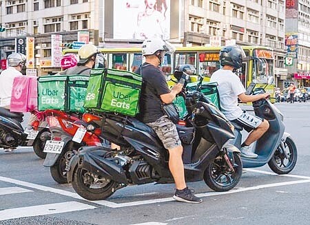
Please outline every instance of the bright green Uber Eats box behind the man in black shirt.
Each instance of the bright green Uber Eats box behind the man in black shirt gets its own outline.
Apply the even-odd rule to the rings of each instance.
[[[118,69],[92,69],[84,107],[136,116],[142,77]]]

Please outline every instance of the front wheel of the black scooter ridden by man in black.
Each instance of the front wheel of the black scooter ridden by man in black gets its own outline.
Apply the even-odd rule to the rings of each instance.
[[[234,165],[234,172],[222,155],[216,156],[214,161],[209,164],[203,175],[203,180],[209,188],[214,191],[229,191],[233,189],[239,182],[242,175],[242,161],[239,153],[229,154],[231,164]]]

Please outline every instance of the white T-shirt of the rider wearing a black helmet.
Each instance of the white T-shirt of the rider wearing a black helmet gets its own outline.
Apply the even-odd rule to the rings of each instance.
[[[228,120],[236,120],[242,114],[242,109],[238,107],[238,95],[245,93],[240,78],[231,70],[218,69],[211,76],[210,82],[218,83],[218,93],[220,94],[220,107]]]

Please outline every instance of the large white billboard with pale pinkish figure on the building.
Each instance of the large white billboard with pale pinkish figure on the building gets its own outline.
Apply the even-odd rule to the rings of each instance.
[[[114,39],[170,39],[170,0],[114,1]]]

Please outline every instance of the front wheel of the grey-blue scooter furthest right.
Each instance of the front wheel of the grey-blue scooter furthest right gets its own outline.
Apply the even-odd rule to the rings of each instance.
[[[270,169],[278,174],[287,174],[291,172],[296,166],[297,162],[297,148],[293,140],[290,137],[287,137],[284,145],[285,148],[289,150],[289,158],[285,158],[283,153],[284,149],[282,149],[281,145],[279,144],[272,158],[268,162]]]

